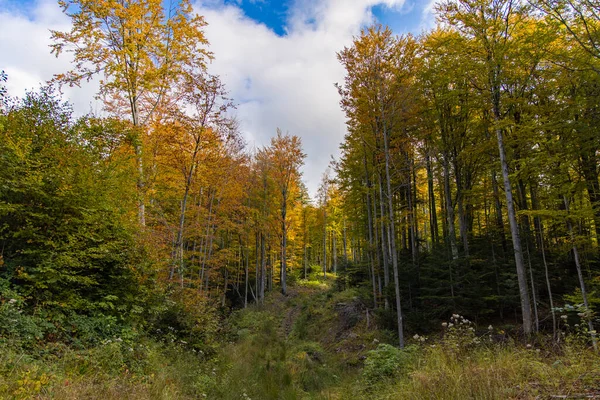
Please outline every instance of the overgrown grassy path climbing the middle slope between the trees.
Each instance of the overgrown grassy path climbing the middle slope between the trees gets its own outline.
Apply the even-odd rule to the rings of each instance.
[[[366,346],[348,346],[359,335],[340,321],[337,305],[352,300],[340,299],[334,284],[333,278],[300,281],[286,296],[272,292],[264,305],[239,311],[232,320],[237,339],[217,356],[218,389],[209,398],[362,398],[341,389],[356,380]]]

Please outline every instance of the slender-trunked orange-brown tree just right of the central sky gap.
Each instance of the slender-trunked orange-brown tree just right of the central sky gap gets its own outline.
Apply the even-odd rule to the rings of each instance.
[[[370,130],[383,160],[378,167],[382,225],[382,256],[384,266],[389,251],[396,294],[398,340],[404,346],[403,317],[400,299],[398,249],[396,245],[396,208],[392,190],[392,145],[400,143],[400,132],[413,104],[411,81],[414,79],[416,41],[411,36],[395,38],[389,28],[370,27],[355,39],[353,46],[338,54],[347,71],[344,86],[338,86],[342,108],[348,124],[355,129]],[[398,144],[401,146],[401,144]],[[406,156],[406,148],[399,151]],[[407,159],[406,157],[405,159]],[[410,182],[410,180],[409,180]],[[410,186],[410,183],[409,183]],[[408,196],[410,197],[410,195]],[[414,240],[413,236],[413,240]],[[387,271],[384,271],[384,278]],[[387,278],[386,278],[387,279]]]

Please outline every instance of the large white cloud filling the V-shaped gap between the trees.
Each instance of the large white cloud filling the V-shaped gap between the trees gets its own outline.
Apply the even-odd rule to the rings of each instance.
[[[334,87],[344,79],[336,53],[373,20],[372,6],[398,9],[403,2],[296,0],[285,36],[245,17],[238,7],[197,4],[209,24],[206,35],[215,55],[210,69],[238,103],[237,115],[250,145],[268,144],[277,127],[300,136],[312,195],[346,133]]]

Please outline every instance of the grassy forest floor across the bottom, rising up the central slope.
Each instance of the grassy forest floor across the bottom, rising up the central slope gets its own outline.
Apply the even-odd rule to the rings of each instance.
[[[149,340],[125,368],[122,345],[0,353],[0,399],[600,399],[600,357],[561,346],[494,343],[468,324],[405,350],[355,289],[299,281],[227,319],[210,357]],[[130,349],[137,352],[137,349]]]

